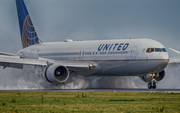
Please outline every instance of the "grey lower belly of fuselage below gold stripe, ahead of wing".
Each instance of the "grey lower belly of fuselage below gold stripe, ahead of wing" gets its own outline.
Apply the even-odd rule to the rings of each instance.
[[[99,62],[101,75],[132,76],[160,72],[167,66],[166,60],[104,61]],[[100,73],[99,73],[100,74]]]

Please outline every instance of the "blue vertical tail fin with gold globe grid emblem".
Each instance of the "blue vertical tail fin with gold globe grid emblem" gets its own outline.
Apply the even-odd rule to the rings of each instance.
[[[38,38],[36,30],[33,26],[27,8],[24,4],[24,0],[16,0],[16,7],[23,48],[40,43],[40,39]]]

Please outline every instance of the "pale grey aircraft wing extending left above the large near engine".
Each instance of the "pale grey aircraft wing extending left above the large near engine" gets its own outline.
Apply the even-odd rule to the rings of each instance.
[[[0,55],[0,66],[3,66],[3,68],[11,67],[22,69],[23,65],[48,66],[51,64],[63,65],[70,68],[71,70],[77,68],[89,69],[91,66],[91,64],[87,62],[56,61],[44,58],[27,59],[20,58],[20,56]]]

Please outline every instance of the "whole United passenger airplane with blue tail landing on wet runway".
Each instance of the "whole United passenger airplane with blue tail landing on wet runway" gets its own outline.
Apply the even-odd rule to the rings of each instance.
[[[50,83],[64,83],[73,73],[91,76],[138,76],[155,89],[165,77],[169,62],[163,44],[152,39],[114,39],[42,42],[31,21],[24,0],[16,0],[23,49],[17,54],[0,53],[3,69],[41,67]]]

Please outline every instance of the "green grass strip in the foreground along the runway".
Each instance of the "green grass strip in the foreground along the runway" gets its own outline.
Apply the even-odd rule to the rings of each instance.
[[[0,92],[0,113],[180,113],[180,93]]]

